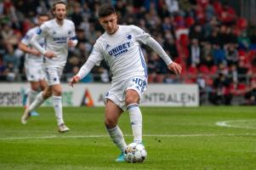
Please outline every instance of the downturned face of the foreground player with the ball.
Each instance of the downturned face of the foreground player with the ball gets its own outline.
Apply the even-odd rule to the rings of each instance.
[[[113,34],[117,31],[117,14],[110,14],[105,17],[100,17],[100,25],[108,34]]]

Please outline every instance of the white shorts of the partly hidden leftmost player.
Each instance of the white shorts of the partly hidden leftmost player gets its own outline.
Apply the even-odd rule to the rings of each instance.
[[[39,82],[45,79],[41,65],[33,65],[32,67],[25,65],[25,71],[28,82]]]

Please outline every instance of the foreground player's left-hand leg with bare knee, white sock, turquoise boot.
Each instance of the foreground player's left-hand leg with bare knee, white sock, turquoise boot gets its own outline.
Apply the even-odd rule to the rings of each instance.
[[[117,148],[122,151],[122,155],[119,156],[116,161],[124,161],[123,153],[127,147],[122,131],[117,125],[121,115],[122,109],[111,101],[111,99],[107,99],[105,103],[105,127],[114,144],[116,144]]]

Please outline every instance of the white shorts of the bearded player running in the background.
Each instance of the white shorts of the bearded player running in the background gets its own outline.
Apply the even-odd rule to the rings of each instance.
[[[46,82],[48,86],[52,86],[54,84],[60,84],[60,77],[62,75],[63,67],[53,68],[53,67],[44,67],[43,72],[45,75]]]

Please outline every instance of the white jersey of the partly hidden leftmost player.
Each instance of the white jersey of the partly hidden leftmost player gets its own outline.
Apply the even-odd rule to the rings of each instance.
[[[23,37],[21,39],[21,42],[24,43],[26,46],[30,46],[31,47],[31,37],[37,33],[37,30],[39,29],[39,26],[35,26],[33,28],[31,28],[29,31],[26,32],[25,37]],[[44,46],[44,39],[41,38],[37,41],[41,47]],[[33,67],[35,65],[41,65],[43,61],[43,55],[41,56],[37,56],[37,55],[33,55],[33,54],[26,54],[26,58],[25,58],[25,65],[30,66],[32,65]]]

